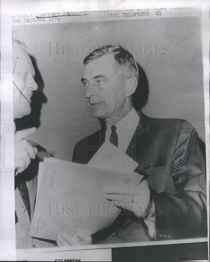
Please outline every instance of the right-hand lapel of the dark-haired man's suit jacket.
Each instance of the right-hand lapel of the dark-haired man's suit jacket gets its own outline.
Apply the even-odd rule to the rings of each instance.
[[[151,119],[146,116],[142,112],[137,113],[140,115],[139,123],[134,132],[134,135],[128,145],[128,148],[125,152],[130,158],[136,161],[136,151],[141,146],[141,144],[145,141],[148,136],[148,133],[151,129]]]

